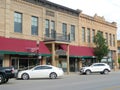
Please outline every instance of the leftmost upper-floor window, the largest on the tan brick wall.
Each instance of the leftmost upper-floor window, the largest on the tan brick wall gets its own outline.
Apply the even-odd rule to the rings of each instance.
[[[22,14],[14,13],[14,32],[22,33]]]

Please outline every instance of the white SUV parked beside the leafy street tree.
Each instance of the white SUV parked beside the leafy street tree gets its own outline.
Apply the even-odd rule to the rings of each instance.
[[[110,66],[106,63],[93,63],[89,67],[82,67],[80,74],[100,73],[108,74],[111,71]]]

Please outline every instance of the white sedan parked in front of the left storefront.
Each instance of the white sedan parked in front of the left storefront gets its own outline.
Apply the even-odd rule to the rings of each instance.
[[[18,72],[17,78],[28,80],[30,78],[50,78],[56,79],[64,75],[62,68],[51,65],[38,65],[30,70]]]

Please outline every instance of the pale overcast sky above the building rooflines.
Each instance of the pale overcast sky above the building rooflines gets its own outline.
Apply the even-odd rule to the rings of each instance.
[[[120,40],[120,0],[48,0],[71,9],[80,9],[89,16],[104,16],[117,23],[117,40]]]

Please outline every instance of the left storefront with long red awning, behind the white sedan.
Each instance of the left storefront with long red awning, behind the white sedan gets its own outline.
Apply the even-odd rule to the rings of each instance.
[[[0,37],[0,65],[29,69],[45,64],[51,53],[44,42]]]

